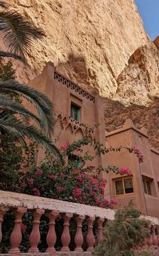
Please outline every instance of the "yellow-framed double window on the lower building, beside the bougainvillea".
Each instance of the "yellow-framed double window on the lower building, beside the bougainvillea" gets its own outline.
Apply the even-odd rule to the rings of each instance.
[[[133,193],[133,178],[123,177],[122,179],[116,179],[115,181],[116,195]]]

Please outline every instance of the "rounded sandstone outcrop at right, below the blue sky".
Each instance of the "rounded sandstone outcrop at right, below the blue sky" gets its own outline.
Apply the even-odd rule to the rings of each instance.
[[[125,106],[148,106],[159,97],[159,50],[154,43],[139,47],[129,58],[129,64],[118,76],[118,89],[113,100]]]

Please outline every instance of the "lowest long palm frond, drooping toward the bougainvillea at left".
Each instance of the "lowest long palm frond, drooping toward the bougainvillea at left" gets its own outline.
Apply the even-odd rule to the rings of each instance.
[[[28,137],[28,139],[38,142],[45,148],[51,150],[55,155],[60,156],[58,148],[35,125],[27,126],[26,123],[18,119],[15,120],[13,116],[8,116],[7,118],[0,119],[0,129],[16,136],[19,142],[25,140],[25,137]]]

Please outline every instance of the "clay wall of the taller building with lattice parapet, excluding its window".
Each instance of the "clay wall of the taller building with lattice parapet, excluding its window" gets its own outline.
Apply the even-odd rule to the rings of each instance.
[[[68,86],[68,83],[69,85],[71,84],[71,86]],[[80,88],[77,91],[76,85],[55,71],[52,62],[48,62],[43,72],[30,81],[29,85],[43,91],[53,102],[55,112],[55,132],[53,141],[56,146],[60,147],[66,142],[71,143],[81,138],[83,135],[80,127],[81,124],[93,126],[100,123],[100,126],[95,129],[94,135],[101,143],[105,143],[104,104],[103,98],[97,93],[97,89],[95,89],[96,92],[94,90],[92,94],[88,94]],[[89,95],[93,97],[91,100]],[[77,124],[76,121],[74,122],[70,119],[71,102],[81,106],[81,120],[79,123],[77,122]],[[65,121],[68,122],[67,125]],[[60,138],[55,142],[59,134]],[[89,146],[85,146],[84,150],[89,150],[91,154],[94,154],[93,149]],[[40,163],[41,158],[43,158],[42,151],[38,156],[38,163]],[[101,162],[105,163],[105,161],[103,156],[101,158],[97,157],[91,164],[99,165]]]

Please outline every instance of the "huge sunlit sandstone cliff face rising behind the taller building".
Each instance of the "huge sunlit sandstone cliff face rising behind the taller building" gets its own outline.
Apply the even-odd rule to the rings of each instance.
[[[30,52],[30,70],[16,64],[21,81],[32,79],[51,60],[74,82],[99,87],[101,95],[112,98],[127,60],[150,41],[134,0],[6,2],[46,34]]]

